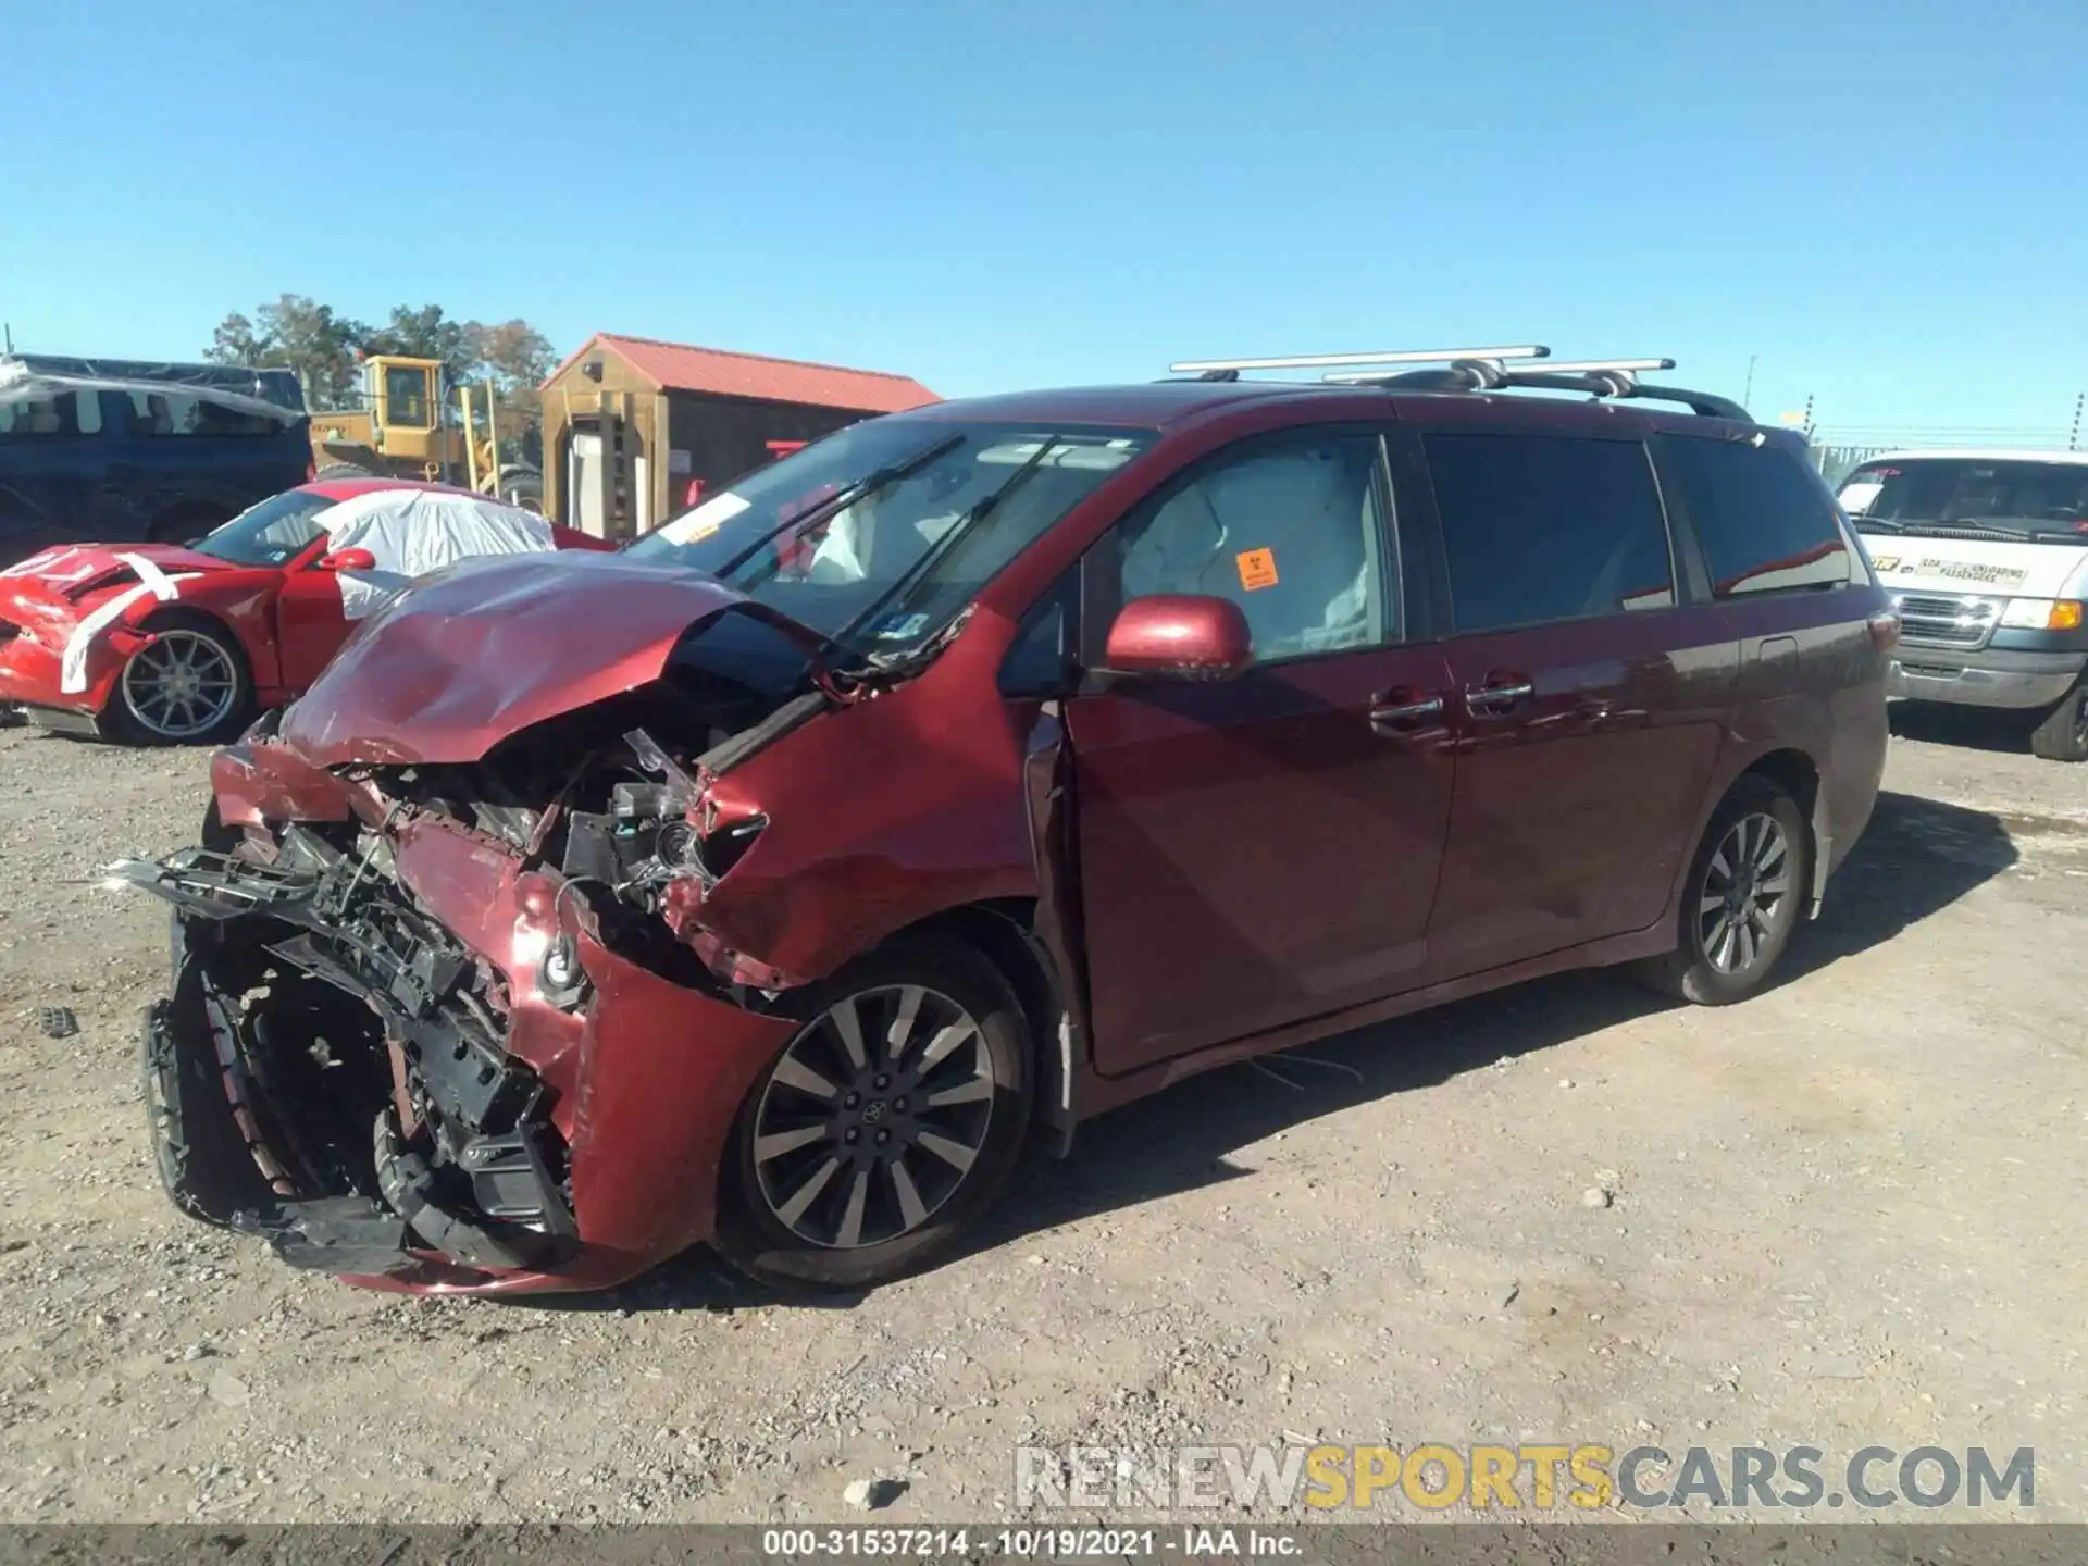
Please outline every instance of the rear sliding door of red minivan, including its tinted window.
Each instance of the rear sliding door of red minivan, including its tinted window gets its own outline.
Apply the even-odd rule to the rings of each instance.
[[[1639,438],[1460,430],[1420,445],[1455,628],[1439,981],[1662,915],[1695,846],[1735,647],[1716,610],[1677,593]]]

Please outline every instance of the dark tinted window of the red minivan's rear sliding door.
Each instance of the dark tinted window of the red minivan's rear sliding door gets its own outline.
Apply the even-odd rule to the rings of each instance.
[[[1675,603],[1660,489],[1637,441],[1426,434],[1457,631]]]

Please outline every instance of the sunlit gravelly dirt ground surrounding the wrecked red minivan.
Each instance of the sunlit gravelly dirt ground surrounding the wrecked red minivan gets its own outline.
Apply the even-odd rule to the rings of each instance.
[[[1021,1441],[1282,1432],[2032,1445],[2038,1514],[2088,1514],[2088,768],[2013,731],[1894,743],[1752,1004],[1576,975],[1215,1073],[831,1309],[702,1257],[399,1301],[180,1219],[165,921],[92,867],[190,841],[205,762],[0,733],[0,1520],[796,1520],[873,1474],[992,1518]]]

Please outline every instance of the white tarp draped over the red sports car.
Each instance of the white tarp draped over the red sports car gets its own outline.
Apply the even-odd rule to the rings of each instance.
[[[416,576],[478,555],[547,555],[557,549],[551,524],[535,512],[484,495],[430,489],[380,489],[330,505],[313,522],[332,553],[367,549],[376,570],[345,570],[340,610],[349,620],[376,614]]]

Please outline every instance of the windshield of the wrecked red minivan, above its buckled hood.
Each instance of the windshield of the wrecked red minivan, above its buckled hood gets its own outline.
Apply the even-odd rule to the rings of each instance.
[[[856,656],[904,658],[1153,441],[873,420],[756,470],[626,553],[722,576]]]

